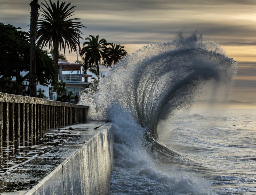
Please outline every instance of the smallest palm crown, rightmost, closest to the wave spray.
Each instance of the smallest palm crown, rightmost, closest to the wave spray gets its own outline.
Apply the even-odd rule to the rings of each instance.
[[[127,52],[123,49],[124,46],[116,45],[113,43],[108,43],[108,45],[110,45],[111,47],[108,47],[105,51],[102,66],[111,68],[112,65],[122,60],[124,56],[127,54]]]

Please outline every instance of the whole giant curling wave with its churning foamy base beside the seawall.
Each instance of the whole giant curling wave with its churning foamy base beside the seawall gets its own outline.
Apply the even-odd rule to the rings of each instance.
[[[164,145],[157,127],[189,108],[208,83],[213,91],[228,88],[235,66],[217,43],[179,35],[127,56],[101,79],[98,93],[82,94],[91,119],[113,123],[112,194],[215,194],[198,171],[204,165]]]

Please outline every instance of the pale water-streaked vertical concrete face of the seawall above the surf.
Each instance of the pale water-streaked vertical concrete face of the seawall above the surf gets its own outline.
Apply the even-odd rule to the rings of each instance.
[[[108,195],[113,131],[107,123],[25,195]]]

